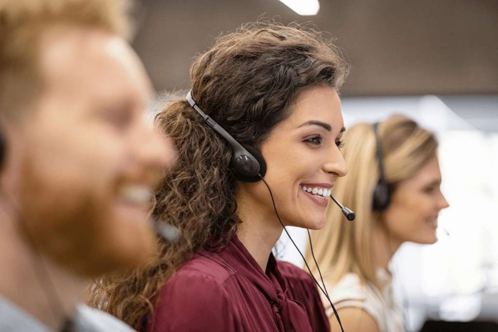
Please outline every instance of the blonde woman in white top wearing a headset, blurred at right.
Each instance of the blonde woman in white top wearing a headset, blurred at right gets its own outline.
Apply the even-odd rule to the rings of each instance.
[[[344,139],[351,170],[332,195],[356,212],[356,220],[329,205],[325,227],[311,232],[314,253],[345,331],[404,331],[387,267],[401,243],[437,241],[438,214],[448,207],[437,141],[403,115],[357,124]],[[306,256],[309,261],[309,248]],[[340,331],[329,301],[322,300],[331,330]]]

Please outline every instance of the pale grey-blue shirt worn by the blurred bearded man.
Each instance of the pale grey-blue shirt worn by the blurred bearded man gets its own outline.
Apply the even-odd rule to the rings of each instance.
[[[76,309],[74,325],[78,332],[135,332],[116,317],[82,305]],[[53,331],[0,295],[0,332]]]

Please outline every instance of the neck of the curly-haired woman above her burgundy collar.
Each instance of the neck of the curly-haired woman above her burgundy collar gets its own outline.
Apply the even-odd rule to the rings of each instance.
[[[282,234],[282,225],[274,210],[261,211],[260,205],[250,197],[238,199],[237,214],[242,220],[237,236],[265,272],[271,249]]]

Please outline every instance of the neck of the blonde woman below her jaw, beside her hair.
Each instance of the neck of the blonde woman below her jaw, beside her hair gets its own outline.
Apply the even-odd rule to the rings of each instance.
[[[387,270],[389,261],[401,245],[394,236],[389,233],[384,222],[375,220],[373,226],[373,254],[375,265]]]

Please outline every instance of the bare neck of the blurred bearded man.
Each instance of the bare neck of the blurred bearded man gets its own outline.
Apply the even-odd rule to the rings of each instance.
[[[0,211],[0,295],[57,331],[74,312],[87,281],[38,254],[15,222]]]

